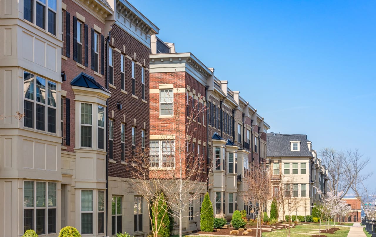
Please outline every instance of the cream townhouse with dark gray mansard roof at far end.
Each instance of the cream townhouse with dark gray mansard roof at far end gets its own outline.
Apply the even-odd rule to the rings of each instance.
[[[285,198],[280,200],[277,219],[312,214],[312,208],[320,205],[322,198],[317,190],[326,194],[329,177],[307,135],[267,133],[267,159],[270,160],[271,192],[276,199]]]

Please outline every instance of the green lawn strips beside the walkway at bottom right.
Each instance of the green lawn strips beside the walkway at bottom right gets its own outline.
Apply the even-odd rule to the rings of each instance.
[[[336,226],[337,227],[337,226]],[[318,225],[298,225],[295,228],[290,228],[291,231],[291,236],[293,237],[308,237],[307,233],[309,234],[318,234]],[[325,228],[325,226],[321,225],[321,229]],[[327,237],[346,237],[347,234],[350,231],[349,227],[343,227],[343,226],[338,226],[340,230],[336,231],[335,234],[323,234],[326,235]],[[306,233],[306,234],[302,234]],[[286,231],[285,229],[278,229],[274,230],[272,232],[265,232],[262,233],[262,237],[285,237],[286,236]]]

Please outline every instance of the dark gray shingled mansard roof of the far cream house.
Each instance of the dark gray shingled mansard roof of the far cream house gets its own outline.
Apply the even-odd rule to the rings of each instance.
[[[291,151],[290,141],[300,141],[299,151]],[[308,149],[307,135],[267,133],[267,157],[312,157]]]

